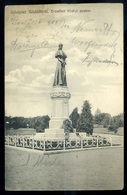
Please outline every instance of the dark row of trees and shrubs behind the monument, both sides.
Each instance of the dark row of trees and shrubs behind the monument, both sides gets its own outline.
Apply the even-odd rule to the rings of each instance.
[[[69,130],[69,132],[73,131],[73,128],[76,128],[77,131],[83,131],[88,134],[92,134],[93,132],[93,122],[94,124],[103,125],[103,127],[108,128],[110,131],[117,132],[119,127],[124,126],[124,116],[123,114],[119,114],[117,116],[111,117],[109,113],[101,113],[99,109],[97,109],[93,116],[91,114],[91,107],[88,101],[85,101],[82,107],[82,113],[78,114],[78,108],[76,107],[71,115],[70,119],[72,124],[67,122],[65,131]],[[30,128],[36,129],[37,132],[43,132],[44,129],[49,127],[49,116],[37,116],[33,118],[25,118],[25,117],[11,117],[5,116],[5,129],[18,129],[18,128]],[[64,124],[65,125],[65,124]]]

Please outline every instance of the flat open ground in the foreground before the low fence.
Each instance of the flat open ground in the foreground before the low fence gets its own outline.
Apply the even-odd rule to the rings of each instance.
[[[123,188],[123,148],[44,155],[5,147],[6,190]]]

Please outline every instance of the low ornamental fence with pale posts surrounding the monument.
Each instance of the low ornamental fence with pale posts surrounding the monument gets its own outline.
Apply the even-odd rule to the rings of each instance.
[[[34,150],[52,151],[83,149],[93,147],[123,146],[123,136],[91,136],[86,138],[39,140],[29,136],[5,136],[5,145],[29,148]]]

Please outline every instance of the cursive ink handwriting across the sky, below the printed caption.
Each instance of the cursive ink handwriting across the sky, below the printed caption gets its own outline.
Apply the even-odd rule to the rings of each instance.
[[[29,52],[33,57],[35,51],[54,50],[59,42],[67,40],[70,47],[81,51],[80,62],[87,67],[119,65],[115,59],[120,32],[114,29],[113,22],[100,23],[97,18],[73,22],[67,17],[49,19],[42,16],[22,19],[19,15],[13,15],[10,21],[15,29],[15,38],[10,39],[11,52]]]

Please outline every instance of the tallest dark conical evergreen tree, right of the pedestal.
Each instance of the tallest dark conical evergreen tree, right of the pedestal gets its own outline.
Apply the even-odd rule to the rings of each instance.
[[[93,133],[93,116],[91,114],[91,106],[88,100],[83,103],[82,112],[77,122],[77,130],[91,135]]]

